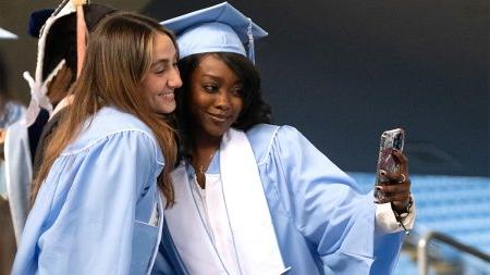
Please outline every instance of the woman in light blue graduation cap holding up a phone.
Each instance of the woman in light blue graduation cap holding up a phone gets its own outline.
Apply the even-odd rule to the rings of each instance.
[[[297,129],[268,124],[253,64],[264,29],[226,2],[162,24],[180,49],[184,160],[158,260],[177,274],[392,273],[414,220],[406,158],[393,153],[392,196],[375,203]]]

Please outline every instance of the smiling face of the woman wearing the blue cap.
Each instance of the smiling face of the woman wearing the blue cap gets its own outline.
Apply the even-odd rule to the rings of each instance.
[[[243,86],[217,55],[206,54],[191,76],[188,110],[198,138],[221,139],[243,109]]]

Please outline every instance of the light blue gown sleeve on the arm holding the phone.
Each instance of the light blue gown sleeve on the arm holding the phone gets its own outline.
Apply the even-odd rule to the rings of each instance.
[[[390,274],[402,235],[377,230],[372,192],[360,193],[354,179],[293,127],[280,127],[270,158],[286,211],[326,273]]]

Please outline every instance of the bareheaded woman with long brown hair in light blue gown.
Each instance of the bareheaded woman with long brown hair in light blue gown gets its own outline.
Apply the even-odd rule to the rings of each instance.
[[[90,36],[74,99],[34,180],[13,274],[146,274],[164,205],[174,130],[166,114],[182,85],[173,35],[132,13]]]

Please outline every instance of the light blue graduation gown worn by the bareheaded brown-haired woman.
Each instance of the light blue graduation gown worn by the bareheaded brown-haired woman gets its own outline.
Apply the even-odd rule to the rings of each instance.
[[[163,157],[135,116],[103,108],[53,163],[13,274],[147,274],[163,224]],[[159,218],[151,223],[155,211]]]

